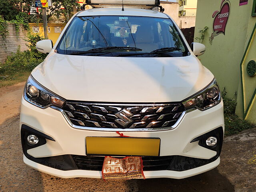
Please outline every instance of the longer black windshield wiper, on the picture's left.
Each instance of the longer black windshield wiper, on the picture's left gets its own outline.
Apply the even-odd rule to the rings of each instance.
[[[136,47],[116,47],[116,46],[111,46],[111,47],[101,47],[101,48],[94,48],[90,49],[88,51],[80,51],[80,52],[72,52],[70,55],[80,55],[80,54],[86,54],[86,53],[94,53],[94,52],[99,52],[99,51],[110,51],[110,50],[118,50],[118,51],[142,51],[140,48]]]

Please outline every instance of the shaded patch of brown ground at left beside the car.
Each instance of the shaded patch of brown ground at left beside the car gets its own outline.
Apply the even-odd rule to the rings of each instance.
[[[40,172],[23,163],[19,115],[0,125],[0,191],[44,191]]]

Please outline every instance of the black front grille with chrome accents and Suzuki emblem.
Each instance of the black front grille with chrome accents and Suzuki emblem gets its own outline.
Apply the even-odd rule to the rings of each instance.
[[[157,129],[174,126],[185,110],[181,103],[98,104],[66,102],[63,113],[80,127]]]

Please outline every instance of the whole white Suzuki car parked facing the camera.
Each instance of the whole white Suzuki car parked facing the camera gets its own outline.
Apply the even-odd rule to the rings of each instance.
[[[54,46],[42,40],[36,47],[49,54],[22,96],[28,166],[102,178],[105,156],[142,156],[146,178],[180,179],[220,163],[223,102],[196,57],[205,46],[191,50],[167,14],[129,6],[81,11]]]

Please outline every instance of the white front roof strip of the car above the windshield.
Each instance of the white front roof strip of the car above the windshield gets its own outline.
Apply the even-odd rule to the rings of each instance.
[[[93,8],[81,11],[77,16],[101,16],[101,15],[117,15],[117,16],[144,16],[144,17],[158,17],[158,18],[168,18],[164,13],[158,12],[156,10],[148,9],[134,9],[134,8]]]

